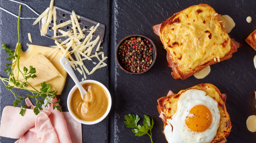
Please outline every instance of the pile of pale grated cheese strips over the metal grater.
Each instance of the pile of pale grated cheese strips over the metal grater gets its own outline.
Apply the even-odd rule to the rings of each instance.
[[[72,11],[72,15],[70,15],[70,20],[63,22],[61,24],[56,24],[56,9],[53,7],[54,0],[51,0],[50,6],[35,20],[33,25],[38,23],[41,19],[44,20],[42,22],[41,26],[41,36],[47,33],[48,26],[50,21],[53,19],[54,26],[52,27],[52,30],[54,30],[54,36],[52,38],[58,38],[58,37],[69,37],[67,40],[59,43],[57,40],[55,40],[56,46],[51,46],[52,48],[55,48],[51,51],[49,54],[56,54],[56,51],[58,49],[61,49],[63,51],[62,56],[68,56],[69,57],[69,63],[74,68],[74,70],[77,70],[81,75],[83,75],[82,81],[85,80],[86,74],[90,75],[95,72],[95,70],[102,68],[104,66],[107,66],[104,61],[108,58],[107,56],[104,56],[104,52],[99,52],[102,49],[100,47],[101,42],[99,42],[98,45],[97,42],[99,41],[100,37],[98,36],[95,40],[92,41],[92,34],[96,31],[99,24],[96,26],[92,26],[90,28],[90,33],[85,36],[83,34],[83,31],[85,29],[81,29],[80,24],[77,20],[76,13]],[[62,31],[58,28],[64,27],[68,24],[72,24],[72,31]],[[57,31],[61,33],[62,35],[57,36]],[[83,42],[80,42],[79,40],[84,39]],[[92,49],[96,48],[95,54],[91,55]],[[74,55],[75,59],[72,58],[71,55]],[[101,58],[99,57],[101,55]],[[90,72],[84,65],[84,60],[92,61],[91,58],[96,57],[99,60],[99,63],[92,62],[93,64],[97,64]]]

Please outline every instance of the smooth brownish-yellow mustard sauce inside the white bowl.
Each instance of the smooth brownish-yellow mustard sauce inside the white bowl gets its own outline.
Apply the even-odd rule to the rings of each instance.
[[[71,96],[71,111],[80,120],[91,122],[100,119],[108,108],[108,94],[96,83],[85,83],[82,86],[87,91],[84,98],[88,100],[82,99],[77,88]]]

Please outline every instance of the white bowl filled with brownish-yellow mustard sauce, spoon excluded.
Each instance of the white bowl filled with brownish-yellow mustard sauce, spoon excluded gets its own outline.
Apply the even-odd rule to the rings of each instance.
[[[87,95],[82,99],[80,91],[75,85],[67,98],[70,115],[82,124],[96,124],[102,121],[111,109],[112,99],[109,90],[95,80],[84,80],[80,84],[86,89]],[[87,101],[87,102],[86,102]]]

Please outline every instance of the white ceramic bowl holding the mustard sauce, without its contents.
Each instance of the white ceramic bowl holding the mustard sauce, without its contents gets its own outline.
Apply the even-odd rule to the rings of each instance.
[[[96,83],[96,84],[99,84],[105,91],[106,93],[108,94],[108,108],[107,108],[107,111],[105,112],[105,114],[98,120],[95,120],[95,121],[83,121],[83,120],[80,120],[76,117],[76,115],[74,115],[74,113],[71,111],[71,108],[70,108],[70,99],[71,99],[71,95],[73,94],[73,92],[77,89],[77,85],[75,85],[69,92],[68,94],[68,99],[67,99],[67,104],[68,104],[68,111],[70,113],[70,115],[75,119],[77,120],[78,122],[82,123],[82,124],[87,124],[87,125],[91,125],[91,124],[96,124],[96,123],[99,123],[100,121],[102,121],[108,114],[109,114],[109,111],[110,111],[110,108],[111,108],[111,104],[112,104],[112,100],[111,100],[111,95],[109,93],[109,90],[102,84],[100,83],[99,81],[95,81],[95,80],[84,80],[84,81],[81,81],[80,82],[82,85],[84,83]]]

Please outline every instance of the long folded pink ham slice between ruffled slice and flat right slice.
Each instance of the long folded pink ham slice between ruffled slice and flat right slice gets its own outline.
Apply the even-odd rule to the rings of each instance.
[[[55,103],[56,101],[56,97],[55,99],[51,98],[52,103]],[[59,103],[56,103],[55,105],[59,106]],[[51,124],[54,127],[55,132],[57,133],[59,142],[72,143],[63,113],[58,111],[56,108],[55,110],[53,110],[53,106],[49,106],[48,111],[51,112],[51,114],[48,117],[50,118]]]

